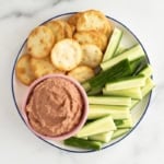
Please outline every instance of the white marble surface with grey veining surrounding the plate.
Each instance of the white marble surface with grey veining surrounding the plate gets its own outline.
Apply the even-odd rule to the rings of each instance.
[[[154,69],[156,87],[144,119],[124,141],[87,154],[68,153],[32,134],[11,94],[11,71],[28,32],[63,12],[102,10],[140,38]],[[0,163],[3,164],[164,164],[164,2],[163,0],[0,0]]]

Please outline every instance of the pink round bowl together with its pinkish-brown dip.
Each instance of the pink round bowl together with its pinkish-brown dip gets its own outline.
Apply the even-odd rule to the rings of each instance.
[[[36,136],[65,140],[83,127],[87,109],[86,93],[75,80],[63,74],[49,74],[31,84],[22,115]]]

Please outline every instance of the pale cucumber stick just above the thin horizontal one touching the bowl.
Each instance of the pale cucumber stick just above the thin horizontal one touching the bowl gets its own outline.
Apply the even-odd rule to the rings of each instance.
[[[140,87],[131,87],[124,90],[110,90],[107,91],[105,87],[103,89],[104,95],[113,95],[113,96],[129,96],[131,98],[141,99],[142,93]]]

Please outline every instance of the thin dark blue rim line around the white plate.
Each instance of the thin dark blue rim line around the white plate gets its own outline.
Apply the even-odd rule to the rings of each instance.
[[[58,17],[61,17],[61,16],[67,16],[67,15],[75,14],[75,13],[77,13],[77,12],[68,12],[68,13],[63,13],[63,14],[59,14],[59,15],[52,16],[52,17],[48,19],[47,21],[43,22],[40,25],[43,25],[43,24],[45,24],[45,23],[47,23],[47,22],[49,22],[49,21],[51,21],[51,20],[54,20],[54,19],[58,19]],[[119,22],[119,21],[117,21],[117,20],[115,20],[115,19],[113,19],[113,17],[110,17],[110,16],[107,16],[107,15],[106,15],[106,17],[109,19],[109,20],[113,20],[113,21],[117,22],[118,24],[120,24],[121,26],[124,26],[124,27],[137,39],[137,42],[141,45],[141,47],[142,47],[142,49],[143,49],[143,51],[144,51],[144,54],[145,54],[148,63],[150,63],[150,59],[149,59],[149,57],[148,57],[148,54],[147,54],[147,51],[145,51],[143,45],[141,44],[141,42],[139,40],[139,38],[131,32],[131,30],[129,30],[129,28],[128,28],[125,24],[122,24],[121,22]],[[15,58],[14,65],[13,65],[13,69],[12,69],[12,75],[11,75],[11,87],[12,87],[13,101],[14,101],[15,107],[16,107],[16,109],[17,109],[17,113],[19,113],[19,115],[21,116],[21,118],[22,118],[23,121],[24,121],[24,119],[23,119],[23,117],[22,117],[22,115],[21,115],[21,113],[20,113],[19,106],[17,106],[17,104],[16,104],[15,95],[14,95],[13,79],[14,79],[14,70],[15,70],[16,61],[17,61],[17,59],[19,59],[19,57],[20,57],[20,54],[21,54],[21,51],[22,51],[24,45],[26,44],[26,40],[27,40],[27,39],[24,40],[23,45],[21,46],[21,48],[20,48],[20,50],[19,50],[19,52],[17,52],[17,55],[16,55],[16,58]],[[138,127],[138,125],[139,125],[140,121],[142,120],[142,118],[144,117],[144,115],[145,115],[145,113],[147,113],[147,110],[148,110],[148,108],[149,108],[149,105],[150,105],[150,102],[151,102],[151,96],[152,96],[152,91],[151,91],[150,94],[149,94],[149,99],[148,99],[148,104],[147,104],[147,106],[145,106],[145,109],[144,109],[144,112],[143,112],[141,118],[139,119],[139,121],[136,124],[136,126],[134,126],[133,128],[131,128],[131,130],[129,130],[129,131],[128,131],[124,137],[121,137],[119,140],[116,140],[115,142],[113,142],[113,143],[110,143],[110,144],[108,144],[108,145],[103,147],[101,150],[107,149],[107,148],[109,148],[109,147],[112,147],[112,145],[115,145],[116,143],[120,142],[121,140],[124,140],[125,138],[127,138],[127,137]],[[24,121],[24,124],[25,124],[25,121]],[[26,124],[25,124],[25,125],[26,125]],[[36,136],[36,134],[35,134],[35,136]],[[86,151],[79,151],[79,150],[78,150],[78,151],[73,151],[73,150],[68,150],[68,149],[65,149],[65,148],[60,148],[60,147],[58,147],[58,145],[55,145],[55,144],[52,144],[52,143],[50,143],[50,142],[44,140],[43,138],[40,138],[40,137],[38,137],[38,136],[36,136],[36,137],[39,138],[40,140],[43,140],[44,142],[46,142],[46,143],[48,143],[48,144],[50,144],[50,145],[52,145],[52,147],[55,147],[55,148],[57,148],[57,149],[60,149],[60,150],[62,150],[62,151],[67,151],[67,152],[71,152],[71,153],[96,152],[96,150],[86,150]],[[101,150],[99,150],[99,151],[101,151]]]

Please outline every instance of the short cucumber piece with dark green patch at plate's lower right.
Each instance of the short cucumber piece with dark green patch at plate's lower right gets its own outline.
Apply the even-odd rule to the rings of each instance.
[[[132,118],[129,117],[128,119],[115,120],[115,125],[117,129],[125,129],[125,128],[132,128],[133,122]]]

